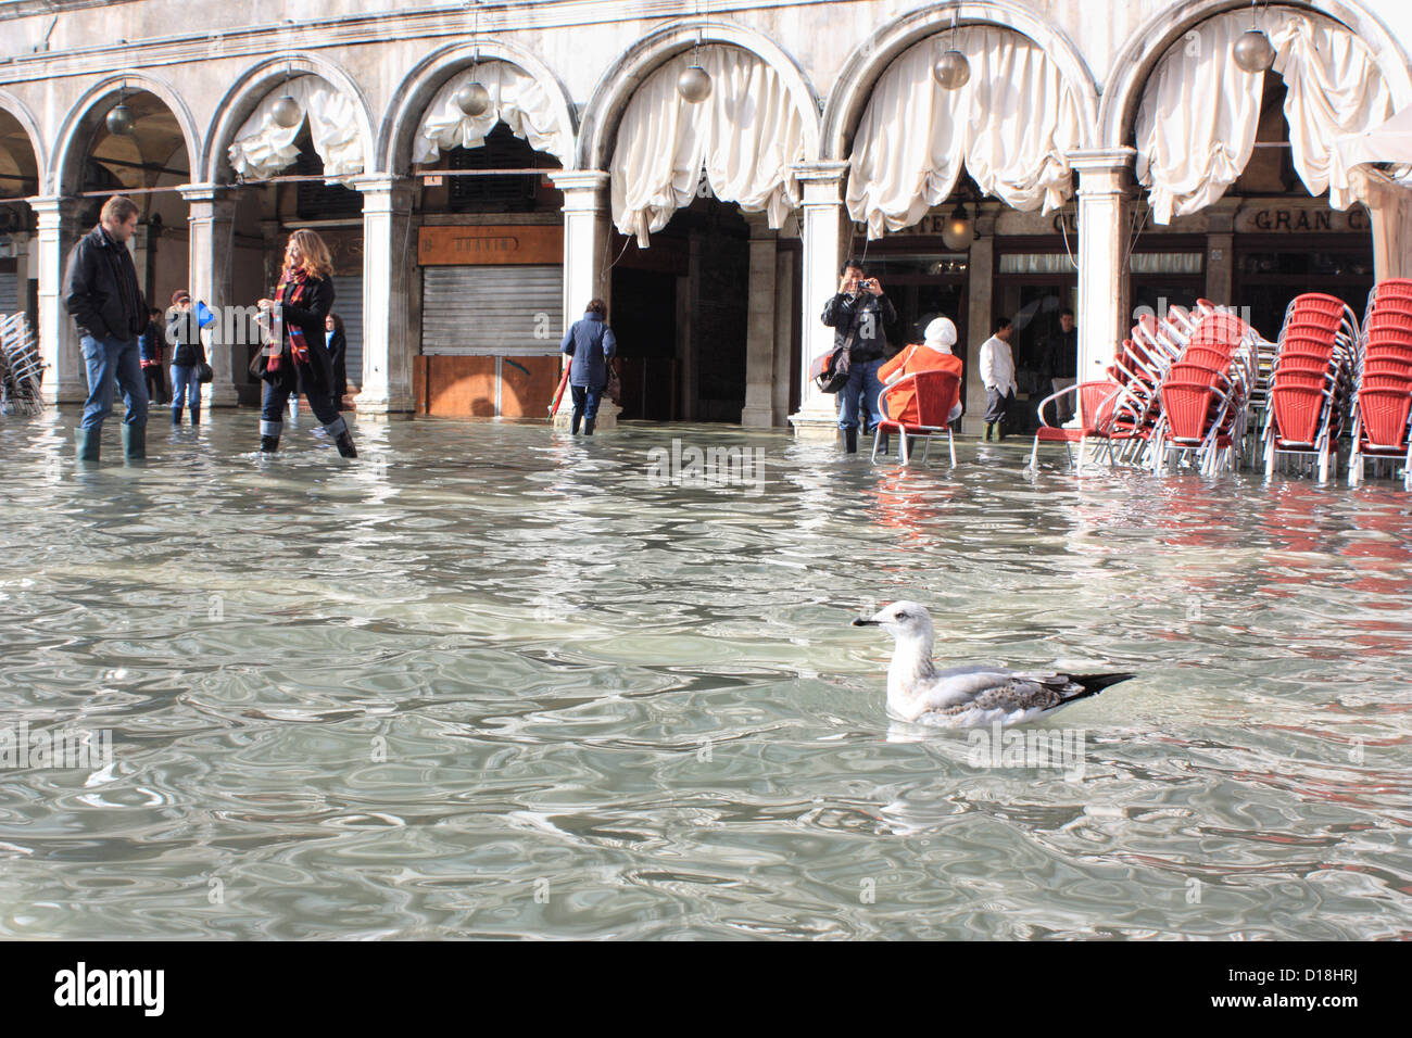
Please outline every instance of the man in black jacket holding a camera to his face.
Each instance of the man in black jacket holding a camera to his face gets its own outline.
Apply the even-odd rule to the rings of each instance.
[[[849,343],[849,383],[839,393],[839,428],[849,453],[858,449],[858,402],[867,408],[867,431],[877,428],[878,394],[882,383],[878,369],[887,353],[882,326],[897,321],[897,309],[882,295],[877,278],[868,278],[858,260],[849,260],[839,271],[839,294],[823,308],[823,323],[833,329],[833,345]]]

